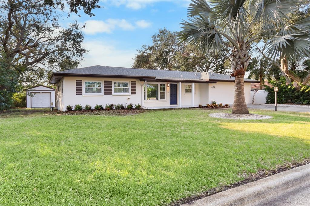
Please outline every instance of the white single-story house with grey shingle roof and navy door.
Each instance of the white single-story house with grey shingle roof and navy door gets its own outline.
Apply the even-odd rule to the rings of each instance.
[[[140,104],[146,109],[194,107],[217,103],[232,104],[234,78],[212,72],[135,69],[92,66],[54,72],[55,108],[67,105]],[[250,103],[251,83],[244,79],[246,103]]]

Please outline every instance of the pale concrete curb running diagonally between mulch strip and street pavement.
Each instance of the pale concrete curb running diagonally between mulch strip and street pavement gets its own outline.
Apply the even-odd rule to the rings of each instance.
[[[310,164],[307,164],[183,205],[255,205],[309,183]]]

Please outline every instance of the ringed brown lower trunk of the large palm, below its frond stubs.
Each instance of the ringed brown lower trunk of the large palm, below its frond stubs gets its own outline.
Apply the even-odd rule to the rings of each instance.
[[[232,105],[232,114],[249,114],[244,96],[244,75],[235,76],[235,97]]]

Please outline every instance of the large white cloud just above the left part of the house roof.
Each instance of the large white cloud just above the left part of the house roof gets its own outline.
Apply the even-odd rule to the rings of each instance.
[[[85,41],[83,43],[85,49],[89,50],[84,55],[81,67],[89,67],[94,65],[113,66],[113,67],[131,67],[132,58],[135,57],[135,50],[120,50],[113,45],[97,40]]]

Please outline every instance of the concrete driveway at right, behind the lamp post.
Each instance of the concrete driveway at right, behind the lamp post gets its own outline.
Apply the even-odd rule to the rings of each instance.
[[[247,105],[250,109],[264,109],[264,110],[274,110],[274,104],[264,104],[264,105]],[[284,111],[284,112],[310,112],[309,105],[277,105],[277,111]]]

